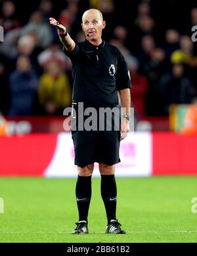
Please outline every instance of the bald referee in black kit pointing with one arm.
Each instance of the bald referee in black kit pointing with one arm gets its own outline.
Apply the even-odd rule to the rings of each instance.
[[[87,234],[88,212],[91,202],[91,177],[95,162],[99,163],[101,175],[101,195],[106,208],[108,226],[106,234],[125,234],[116,219],[117,187],[115,165],[120,162],[120,141],[129,133],[129,111],[131,107],[131,80],[125,59],[120,51],[102,40],[102,30],[106,26],[102,13],[91,9],[83,14],[82,29],[85,41],[75,43],[66,28],[55,18],[51,25],[58,30],[64,44],[64,52],[73,64],[74,77],[73,107],[83,102],[85,108],[114,108],[118,106],[120,94],[123,115],[118,131],[76,131],[72,130],[75,147],[75,164],[78,168],[76,185],[79,222],[74,234]],[[76,118],[76,117],[74,117]],[[106,120],[105,120],[106,121]],[[119,119],[120,121],[120,119]],[[114,127],[113,127],[114,128]]]

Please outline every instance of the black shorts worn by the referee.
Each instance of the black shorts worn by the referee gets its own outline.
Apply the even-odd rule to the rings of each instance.
[[[98,122],[99,123],[99,122]],[[78,126],[77,126],[78,128]],[[81,168],[98,162],[112,166],[120,162],[120,130],[72,131],[75,165]]]

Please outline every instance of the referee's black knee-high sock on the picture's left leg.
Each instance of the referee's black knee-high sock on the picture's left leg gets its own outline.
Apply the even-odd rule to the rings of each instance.
[[[76,185],[77,207],[79,211],[79,221],[85,220],[89,212],[89,205],[92,195],[92,181],[90,177],[78,176]]]

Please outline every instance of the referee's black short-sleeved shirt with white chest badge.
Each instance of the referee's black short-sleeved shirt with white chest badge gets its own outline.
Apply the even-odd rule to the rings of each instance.
[[[88,40],[77,43],[72,52],[64,52],[73,65],[73,101],[91,107],[115,107],[118,90],[131,88],[129,71],[118,48],[102,42],[94,46]]]

